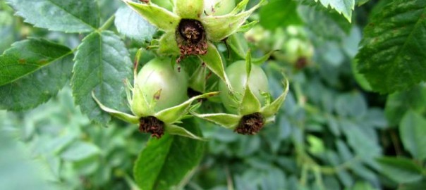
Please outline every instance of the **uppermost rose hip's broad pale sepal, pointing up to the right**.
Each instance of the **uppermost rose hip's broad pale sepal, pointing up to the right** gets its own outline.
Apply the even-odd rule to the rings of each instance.
[[[207,39],[213,42],[219,42],[225,39],[229,35],[235,33],[241,25],[245,23],[245,20],[263,4],[264,0],[261,0],[259,4],[253,6],[248,11],[243,11],[236,15],[223,15],[223,16],[206,16],[202,18],[202,25],[205,27]]]

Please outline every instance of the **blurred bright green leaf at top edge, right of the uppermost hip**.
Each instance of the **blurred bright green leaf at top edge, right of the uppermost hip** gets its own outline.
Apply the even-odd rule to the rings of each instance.
[[[297,12],[298,4],[293,0],[272,0],[260,8],[260,25],[267,30],[289,25],[301,25],[303,20]]]

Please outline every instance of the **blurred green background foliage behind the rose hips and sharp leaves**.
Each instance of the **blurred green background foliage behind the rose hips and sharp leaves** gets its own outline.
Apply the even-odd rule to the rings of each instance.
[[[255,136],[199,120],[209,141],[185,189],[426,189],[425,84],[376,94],[354,69],[363,27],[386,2],[355,6],[351,24],[312,1],[274,0],[250,18],[258,25],[229,39],[229,49],[220,44],[227,60],[249,48],[254,57],[279,50],[262,68],[274,96],[282,91],[281,72],[291,91],[276,123]],[[123,6],[98,3],[102,20]],[[5,1],[0,34],[0,52],[27,37],[71,49],[83,39],[23,23]],[[133,53],[147,45],[125,42]],[[149,136],[118,120],[91,123],[68,84],[33,110],[0,110],[0,126],[0,189],[137,189],[132,167]]]

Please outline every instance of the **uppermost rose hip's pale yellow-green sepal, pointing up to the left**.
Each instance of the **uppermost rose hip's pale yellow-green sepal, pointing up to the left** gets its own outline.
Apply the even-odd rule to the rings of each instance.
[[[178,15],[156,4],[139,4],[129,0],[122,1],[132,8],[133,11],[142,15],[145,20],[161,30],[174,32],[181,21]]]

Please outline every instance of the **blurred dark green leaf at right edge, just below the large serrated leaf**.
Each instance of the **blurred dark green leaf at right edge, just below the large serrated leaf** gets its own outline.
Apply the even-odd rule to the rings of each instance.
[[[398,125],[407,110],[426,111],[426,87],[416,85],[406,91],[395,92],[387,97],[384,113],[391,125]]]

